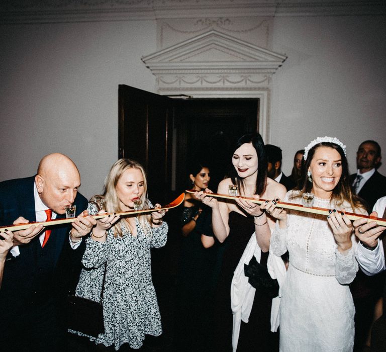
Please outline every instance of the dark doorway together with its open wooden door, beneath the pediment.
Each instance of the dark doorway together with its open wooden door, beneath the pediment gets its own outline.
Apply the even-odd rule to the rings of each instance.
[[[144,166],[154,202],[169,202],[188,188],[188,166],[197,159],[211,166],[216,190],[237,138],[257,130],[258,105],[258,99],[170,99],[119,85],[119,157]]]

